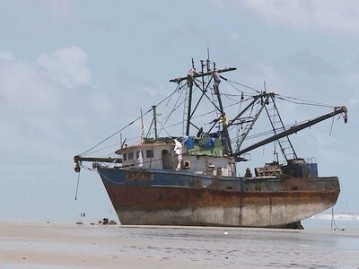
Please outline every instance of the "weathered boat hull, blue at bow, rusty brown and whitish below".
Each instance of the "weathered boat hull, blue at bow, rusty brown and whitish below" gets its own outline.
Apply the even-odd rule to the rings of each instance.
[[[214,178],[98,168],[122,224],[285,227],[336,204],[333,178]]]

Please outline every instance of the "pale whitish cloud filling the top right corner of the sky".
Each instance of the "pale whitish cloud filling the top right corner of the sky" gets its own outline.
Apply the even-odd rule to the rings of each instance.
[[[219,7],[228,6],[215,1]],[[300,29],[359,31],[359,3],[355,0],[244,0],[232,1],[241,11],[250,10],[269,22]]]

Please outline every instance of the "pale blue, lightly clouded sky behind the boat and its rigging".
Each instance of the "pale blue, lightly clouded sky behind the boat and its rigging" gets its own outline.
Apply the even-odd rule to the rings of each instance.
[[[206,48],[218,66],[238,68],[233,81],[348,108],[347,125],[335,120],[329,135],[329,120],[293,142],[320,175],[340,179],[336,211],[359,213],[357,1],[0,5],[0,221],[72,222],[83,212],[116,220],[96,172],[81,173],[74,200],[74,155],[174,91],[169,80],[187,74],[192,57],[206,59]],[[282,110],[291,119],[309,112]]]

